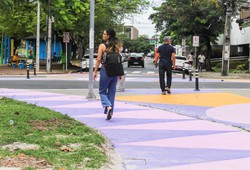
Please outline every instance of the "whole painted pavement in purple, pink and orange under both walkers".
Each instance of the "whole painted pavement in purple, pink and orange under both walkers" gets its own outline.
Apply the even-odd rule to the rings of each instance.
[[[110,139],[124,169],[250,168],[250,133],[234,126],[250,129],[250,98],[237,93],[173,89],[162,96],[158,89],[150,94],[128,89],[117,94],[111,121],[99,100],[68,95],[65,89],[64,94],[0,89],[0,96],[53,109],[97,129]]]

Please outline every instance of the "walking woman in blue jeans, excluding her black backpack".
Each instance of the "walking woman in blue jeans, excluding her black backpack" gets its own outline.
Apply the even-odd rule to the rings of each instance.
[[[116,37],[116,32],[114,29],[104,30],[102,38],[104,43],[101,43],[98,48],[98,56],[93,77],[94,80],[97,78],[98,67],[103,61],[102,59],[103,55],[105,55],[105,52],[121,52],[122,44],[121,41]],[[107,120],[110,120],[114,112],[118,76],[109,77],[105,70],[104,64],[105,63],[102,62],[102,67],[100,70],[99,94],[101,98],[101,104],[104,107],[104,114],[107,114]]]

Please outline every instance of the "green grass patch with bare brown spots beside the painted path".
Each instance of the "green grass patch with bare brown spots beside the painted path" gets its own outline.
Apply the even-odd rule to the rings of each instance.
[[[19,165],[25,169],[39,169],[39,163],[53,169],[98,169],[107,162],[104,148],[107,140],[81,122],[8,98],[0,99],[0,106],[0,166],[5,166],[6,159],[20,162],[26,159],[26,165]],[[15,142],[38,148],[3,148]],[[27,163],[33,159],[38,163]]]

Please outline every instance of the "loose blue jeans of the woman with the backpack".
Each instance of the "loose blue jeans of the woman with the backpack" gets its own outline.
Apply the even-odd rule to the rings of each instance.
[[[116,84],[118,77],[109,77],[104,67],[100,70],[99,94],[103,107],[112,106],[114,111]]]

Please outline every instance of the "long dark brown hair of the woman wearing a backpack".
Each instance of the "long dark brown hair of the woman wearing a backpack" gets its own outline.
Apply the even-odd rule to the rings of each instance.
[[[106,30],[107,35],[109,35],[109,39],[107,41],[107,49],[108,52],[119,52],[121,48],[120,40],[115,36],[116,32],[114,29],[109,28]]]

